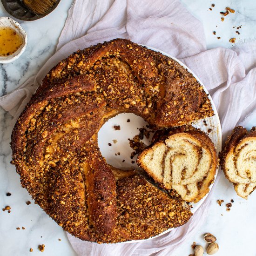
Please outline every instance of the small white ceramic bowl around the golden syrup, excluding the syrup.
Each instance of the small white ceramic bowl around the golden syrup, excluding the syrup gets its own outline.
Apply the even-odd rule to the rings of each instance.
[[[15,30],[17,34],[19,34],[23,40],[22,45],[19,49],[9,56],[0,56],[0,63],[6,64],[17,60],[21,54],[25,51],[27,46],[27,33],[26,31],[20,26],[20,24],[9,18],[9,17],[1,17],[0,18],[0,27],[11,27]]]

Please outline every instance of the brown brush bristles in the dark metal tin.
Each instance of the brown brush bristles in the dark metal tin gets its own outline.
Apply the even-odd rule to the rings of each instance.
[[[31,12],[40,15],[46,14],[56,2],[57,0],[23,0]]]

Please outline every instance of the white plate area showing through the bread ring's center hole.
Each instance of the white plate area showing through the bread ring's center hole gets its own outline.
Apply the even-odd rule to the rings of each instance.
[[[101,127],[98,133],[98,144],[108,164],[119,169],[139,169],[136,164],[137,155],[131,159],[131,154],[135,150],[130,147],[128,139],[134,140],[134,137],[141,133],[140,128],[145,130],[141,130],[144,136],[139,141],[149,146],[154,133],[150,132],[152,129],[149,128],[148,122],[140,116],[128,113],[119,114]],[[149,138],[147,138],[148,135]]]

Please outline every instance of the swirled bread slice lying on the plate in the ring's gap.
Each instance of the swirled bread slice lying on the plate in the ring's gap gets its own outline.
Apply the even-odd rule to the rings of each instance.
[[[168,130],[161,141],[143,150],[137,163],[164,189],[175,189],[183,200],[198,202],[209,192],[216,173],[213,142],[201,130]]]

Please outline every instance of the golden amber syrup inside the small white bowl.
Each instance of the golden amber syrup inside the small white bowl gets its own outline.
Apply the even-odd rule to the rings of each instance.
[[[0,27],[0,56],[12,55],[22,43],[22,37],[13,28]]]

